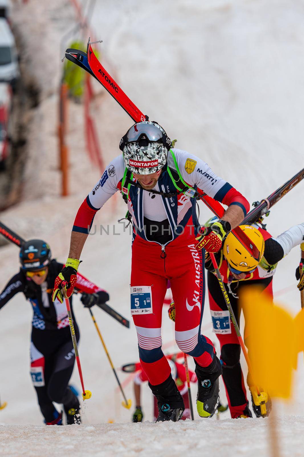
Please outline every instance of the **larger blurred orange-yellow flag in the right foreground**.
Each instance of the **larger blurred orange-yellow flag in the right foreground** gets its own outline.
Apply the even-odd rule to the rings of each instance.
[[[294,320],[256,287],[243,288],[240,300],[254,381],[270,397],[287,399],[294,362]]]

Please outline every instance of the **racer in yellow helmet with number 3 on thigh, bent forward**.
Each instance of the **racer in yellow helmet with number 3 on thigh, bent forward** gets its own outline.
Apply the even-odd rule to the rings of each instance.
[[[223,282],[227,284],[230,303],[238,324],[241,313],[241,309],[238,307],[240,289],[256,285],[261,289],[261,293],[269,294],[273,298],[273,275],[278,262],[289,254],[292,248],[303,242],[304,223],[289,228],[276,238],[273,238],[267,230],[261,228],[258,224],[251,226],[241,225],[240,228],[257,246],[260,251],[260,260],[253,259],[232,234],[227,235],[222,249],[216,253],[218,266]],[[240,365],[241,347],[235,329],[229,319],[226,301],[222,296],[210,256],[207,253],[205,266],[208,270],[208,292],[213,331],[216,333],[221,345],[222,377],[231,417],[232,419],[252,417],[248,407],[246,388]],[[297,271],[298,269],[299,267]],[[304,280],[299,282],[298,287],[299,290],[304,288]],[[252,395],[253,411],[257,417],[261,417],[258,394],[249,375],[247,383]],[[267,386],[263,386],[263,388],[267,388]],[[268,401],[266,402],[267,415],[270,409],[271,400],[268,396]]]

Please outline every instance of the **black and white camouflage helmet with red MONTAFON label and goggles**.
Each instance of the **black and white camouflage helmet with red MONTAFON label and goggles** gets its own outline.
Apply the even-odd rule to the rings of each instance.
[[[170,147],[171,140],[165,130],[150,121],[134,124],[119,143],[126,167],[139,175],[159,171],[167,161]]]

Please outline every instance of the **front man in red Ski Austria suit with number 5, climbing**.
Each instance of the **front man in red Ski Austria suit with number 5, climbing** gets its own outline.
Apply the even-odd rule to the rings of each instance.
[[[205,162],[170,145],[156,122],[138,122],[129,128],[119,144],[123,155],[110,163],[78,210],[69,257],[53,294],[53,299],[61,300],[62,295],[71,295],[88,227],[98,209],[119,190],[133,222],[131,314],[140,362],[158,400],[157,421],[179,420],[185,409],[161,350],[161,311],[168,280],[176,306],[177,345],[196,363],[198,414],[210,417],[216,410],[222,368],[211,340],[201,335],[204,255],[196,249],[196,237],[204,239],[206,250],[216,252],[249,209],[247,200]],[[197,188],[228,206],[224,217],[200,234]]]

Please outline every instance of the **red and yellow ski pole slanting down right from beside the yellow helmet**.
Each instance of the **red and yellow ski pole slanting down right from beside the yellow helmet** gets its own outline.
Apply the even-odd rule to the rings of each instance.
[[[234,329],[235,329],[236,334],[237,334],[238,342],[241,345],[245,360],[247,362],[249,374],[252,377],[252,382],[253,382],[254,387],[257,390],[258,397],[261,397],[259,399],[259,401],[260,401],[260,407],[261,407],[262,416],[265,416],[266,413],[267,413],[266,406],[265,406],[266,394],[264,392],[260,392],[260,389],[258,388],[257,384],[253,380],[254,378],[253,378],[253,374],[252,374],[253,373],[252,372],[252,366],[251,366],[251,363],[250,363],[250,360],[249,360],[249,357],[248,357],[248,354],[247,354],[247,351],[246,351],[246,347],[244,345],[244,341],[243,341],[242,336],[241,336],[241,332],[240,332],[239,326],[237,325],[237,319],[235,318],[235,315],[233,313],[233,309],[232,309],[232,306],[231,306],[231,303],[230,303],[230,300],[229,300],[229,297],[228,297],[228,294],[227,294],[226,287],[224,286],[224,283],[222,282],[222,276],[221,276],[221,273],[220,273],[220,271],[218,269],[218,266],[217,266],[217,263],[216,263],[216,259],[215,259],[215,256],[214,256],[213,252],[209,252],[209,254],[210,254],[210,257],[211,257],[211,260],[212,260],[213,268],[216,271],[216,277],[217,277],[219,285],[221,287],[222,294],[223,294],[225,302],[227,304],[227,308],[228,308],[228,311],[229,311],[229,314],[230,314],[230,319],[232,320],[232,324],[233,324]]]

